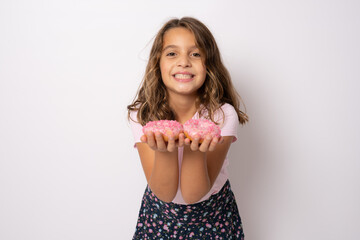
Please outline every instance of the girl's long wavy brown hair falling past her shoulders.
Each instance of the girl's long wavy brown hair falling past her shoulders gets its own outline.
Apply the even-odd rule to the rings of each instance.
[[[214,121],[215,111],[223,104],[229,103],[235,108],[239,122],[245,124],[249,118],[240,110],[241,97],[236,92],[230,74],[221,61],[220,51],[213,35],[202,22],[191,17],[171,19],[157,33],[141,86],[132,104],[127,106],[128,118],[131,111],[137,110],[137,118],[141,125],[145,125],[148,121],[175,120],[175,113],[170,108],[166,87],[161,78],[160,57],[165,32],[176,27],[190,30],[195,36],[196,46],[205,53],[206,78],[198,90],[196,102],[199,114],[203,115],[207,111],[207,117]]]

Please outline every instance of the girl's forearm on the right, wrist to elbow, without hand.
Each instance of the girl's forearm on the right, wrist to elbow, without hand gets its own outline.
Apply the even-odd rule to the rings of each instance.
[[[210,191],[206,153],[191,151],[189,146],[184,147],[180,182],[181,193],[188,204],[199,201]]]

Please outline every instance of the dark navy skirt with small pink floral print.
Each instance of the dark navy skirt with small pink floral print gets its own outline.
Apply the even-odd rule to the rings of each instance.
[[[244,239],[229,180],[209,199],[189,205],[166,203],[147,186],[134,239]]]

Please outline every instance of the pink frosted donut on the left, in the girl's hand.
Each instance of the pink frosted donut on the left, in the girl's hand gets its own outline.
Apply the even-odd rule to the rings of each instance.
[[[161,132],[163,134],[164,141],[167,142],[171,132],[173,133],[175,140],[178,139],[179,134],[183,132],[183,126],[175,120],[158,120],[148,122],[142,130],[144,134],[147,132]]]

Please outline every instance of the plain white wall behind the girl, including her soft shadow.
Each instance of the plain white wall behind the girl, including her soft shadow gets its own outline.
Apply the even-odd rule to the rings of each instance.
[[[159,28],[215,36],[250,116],[230,156],[247,240],[360,235],[356,0],[0,1],[0,239],[131,239],[126,106]]]

